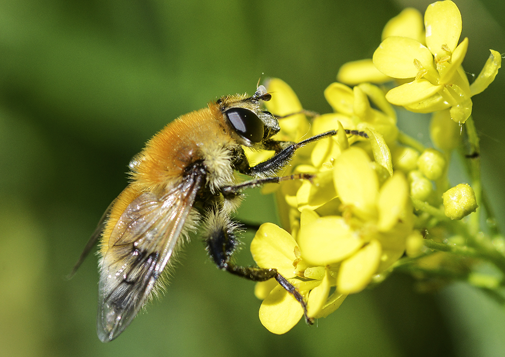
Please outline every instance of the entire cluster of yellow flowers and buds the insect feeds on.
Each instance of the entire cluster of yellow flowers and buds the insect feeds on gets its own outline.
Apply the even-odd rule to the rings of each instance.
[[[309,317],[326,317],[348,294],[380,282],[395,268],[413,267],[420,274],[421,266],[444,267],[452,247],[446,243],[457,242],[451,235],[452,220],[461,220],[480,205],[479,177],[474,175],[472,182],[478,186],[475,192],[468,184],[450,188],[447,167],[451,151],[461,146],[460,126],[465,122],[478,152],[478,140],[472,139],[471,97],[493,81],[501,57],[491,50],[481,74],[469,84],[461,66],[468,47],[467,38],[458,44],[461,26],[460,12],[451,1],[430,5],[424,27],[417,10],[403,11],[386,25],[373,61],[340,69],[337,78],[354,87],[332,83],[326,88],[333,113],[311,121],[304,114],[282,119],[278,140],[299,141],[338,129],[337,135],[300,148],[284,172],[315,174],[313,182],[285,181],[264,188],[276,192],[285,230],[264,224],[250,246],[259,267],[276,268],[304,296]],[[393,79],[398,86],[387,93],[371,84]],[[302,112],[286,83],[271,79],[266,86],[275,93],[266,103],[270,112]],[[433,113],[430,131],[438,150],[403,134],[392,105]],[[344,129],[368,137],[347,135]],[[249,156],[254,163],[269,155]],[[478,216],[472,222],[468,235],[476,233]],[[461,238],[462,229],[458,231]],[[426,239],[434,232],[438,238]],[[458,274],[462,271],[468,276],[471,269],[467,265]],[[304,314],[273,279],[257,283],[255,294],[263,299],[260,320],[271,332],[289,331]]]

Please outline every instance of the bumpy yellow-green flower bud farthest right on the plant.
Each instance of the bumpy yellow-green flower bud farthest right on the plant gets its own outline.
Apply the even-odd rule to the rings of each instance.
[[[478,207],[473,188],[467,183],[449,188],[442,198],[445,216],[452,220],[460,220]]]

